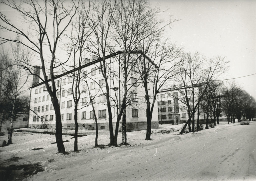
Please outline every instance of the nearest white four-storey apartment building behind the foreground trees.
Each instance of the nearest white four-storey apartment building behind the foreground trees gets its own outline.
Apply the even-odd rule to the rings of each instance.
[[[131,69],[129,70],[128,77],[128,95],[127,100],[130,100],[126,107],[126,124],[127,131],[143,130],[146,129],[146,103],[145,103],[145,89],[140,82],[140,74],[138,73],[139,64],[138,61],[141,56],[153,64],[153,62],[144,55],[141,51],[134,51],[130,57]],[[112,107],[112,120],[113,127],[115,129],[117,109],[116,105],[121,104],[123,96],[123,73],[122,66],[122,51],[118,51],[114,54],[106,56],[107,72],[108,72],[108,84],[110,87],[110,104]],[[94,97],[94,108],[97,115],[97,122],[99,129],[109,129],[108,123],[108,110],[106,105],[106,87],[105,80],[100,72],[100,61],[91,56],[90,59],[84,58],[83,65],[75,68],[75,72],[81,69],[82,79],[80,82],[81,98],[78,103],[78,124],[79,127],[94,127],[95,120],[92,111],[92,105],[90,104],[88,89],[91,95]],[[36,73],[40,74],[40,67],[35,66]],[[72,97],[72,82],[73,82],[73,69],[55,76],[55,83],[57,90],[57,98],[59,100],[59,107],[61,112],[62,126],[74,127],[74,101]],[[86,84],[88,83],[88,86]],[[50,84],[50,79],[48,80]],[[36,127],[50,127],[55,128],[55,112],[51,103],[51,98],[46,91],[46,87],[43,82],[39,82],[34,77],[33,86],[31,87],[30,95],[30,113],[29,113],[29,126]],[[150,90],[153,86],[148,84],[149,93],[153,94],[153,90]],[[153,96],[151,96],[153,97]],[[158,128],[157,119],[157,105],[154,109],[155,113],[152,117],[152,128]],[[122,119],[121,119],[122,121]],[[121,129],[121,124],[120,124]]]

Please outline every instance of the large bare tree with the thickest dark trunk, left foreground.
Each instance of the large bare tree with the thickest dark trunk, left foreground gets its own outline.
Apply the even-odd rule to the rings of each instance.
[[[72,18],[76,14],[78,6],[75,2],[65,4],[64,1],[55,0],[23,0],[19,2],[1,1],[1,4],[2,6],[8,6],[16,11],[22,18],[22,26],[29,27],[28,29],[23,29],[19,26],[19,23],[9,20],[2,11],[0,12],[1,29],[12,35],[11,38],[8,38],[6,35],[2,34],[0,37],[1,44],[8,41],[23,44],[40,57],[43,77],[34,74],[31,70],[32,66],[30,64],[24,66],[31,75],[38,76],[46,86],[55,110],[55,137],[58,152],[65,153],[65,147],[62,140],[60,108],[58,98],[56,96],[57,88],[54,81],[54,74],[56,73],[56,69],[65,63],[60,61],[60,57],[56,57],[56,55],[58,55],[58,45],[63,38],[63,32],[68,29]],[[16,35],[23,37],[24,40],[17,40],[15,38]],[[51,87],[48,82],[48,73],[50,73]]]

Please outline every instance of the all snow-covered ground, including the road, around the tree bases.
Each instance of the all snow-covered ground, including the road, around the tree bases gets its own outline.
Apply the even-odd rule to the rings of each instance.
[[[78,138],[79,152],[72,152],[72,136],[63,135],[67,155],[56,154],[57,146],[51,144],[55,135],[14,132],[13,144],[0,148],[1,168],[40,164],[41,172],[25,180],[256,180],[256,122],[221,122],[215,128],[178,135],[181,128],[159,125],[152,130],[152,141],[144,140],[145,130],[127,132],[128,146],[104,149],[92,148],[95,130],[80,131],[87,136]],[[109,142],[109,132],[99,130],[98,144]],[[15,178],[21,172],[12,174]]]

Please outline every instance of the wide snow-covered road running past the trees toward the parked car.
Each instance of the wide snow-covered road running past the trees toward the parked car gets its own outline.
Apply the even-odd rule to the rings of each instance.
[[[79,153],[28,180],[256,180],[256,122]],[[129,133],[128,133],[129,134]]]

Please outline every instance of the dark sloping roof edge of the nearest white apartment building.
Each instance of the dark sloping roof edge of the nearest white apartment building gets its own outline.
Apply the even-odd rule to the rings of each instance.
[[[105,59],[114,57],[114,56],[119,55],[119,54],[122,54],[122,53],[123,53],[123,51],[121,51],[121,50],[120,50],[120,51],[117,51],[117,52],[114,52],[114,53],[112,53],[112,54],[110,54],[110,55],[106,55],[106,56],[105,56]],[[148,56],[146,56],[141,50],[138,50],[138,51],[137,51],[137,50],[134,50],[134,51],[131,51],[130,53],[140,53],[140,54],[142,54],[145,58],[148,59],[148,61],[150,61],[150,62],[157,68],[157,65],[156,65]],[[102,61],[102,59],[103,59],[103,58],[96,59],[96,60],[94,60],[94,61],[92,61],[92,62],[89,62],[89,63],[87,63],[87,64],[81,65],[80,67],[77,67],[77,68],[75,68],[75,69],[71,69],[71,70],[69,70],[69,71],[67,71],[67,72],[65,72],[65,73],[62,73],[62,74],[60,74],[60,75],[55,76],[54,79],[60,78],[60,77],[62,77],[62,76],[64,76],[64,75],[67,75],[67,74],[72,73],[73,71],[77,71],[77,70],[82,69],[82,68],[84,68],[84,67],[87,67],[87,66],[93,65],[93,64],[95,64],[95,63],[98,63],[98,62]],[[51,80],[51,79],[48,79],[47,81],[50,81],[50,80]],[[44,84],[44,82],[40,82],[40,83],[38,83],[38,84],[36,84],[36,85],[34,85],[34,86],[31,86],[31,87],[29,87],[29,88],[34,88],[34,87],[37,87],[37,86],[42,85],[42,84]]]

